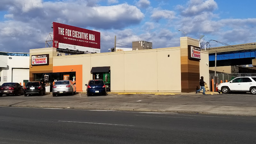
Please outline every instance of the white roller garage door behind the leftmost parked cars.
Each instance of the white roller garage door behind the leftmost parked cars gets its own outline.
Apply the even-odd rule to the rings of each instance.
[[[23,86],[23,80],[29,80],[29,69],[12,69],[12,82],[13,83],[21,83]]]

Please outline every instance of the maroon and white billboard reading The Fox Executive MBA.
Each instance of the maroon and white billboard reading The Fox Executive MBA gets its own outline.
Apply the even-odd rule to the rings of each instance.
[[[53,47],[100,53],[100,32],[53,22]]]

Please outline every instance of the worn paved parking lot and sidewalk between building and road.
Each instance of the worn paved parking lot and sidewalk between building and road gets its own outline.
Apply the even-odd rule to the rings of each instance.
[[[116,110],[134,112],[175,112],[256,116],[254,95],[202,93],[115,93],[107,96],[4,96],[1,107],[73,108],[85,110]],[[156,95],[155,95],[156,94]],[[161,94],[161,95],[160,95]]]

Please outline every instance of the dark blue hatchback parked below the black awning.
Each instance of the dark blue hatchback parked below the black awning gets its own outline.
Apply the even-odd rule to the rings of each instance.
[[[107,95],[106,85],[101,79],[89,80],[88,84],[85,84],[85,85],[87,86],[86,88],[87,96],[91,96],[92,94]]]

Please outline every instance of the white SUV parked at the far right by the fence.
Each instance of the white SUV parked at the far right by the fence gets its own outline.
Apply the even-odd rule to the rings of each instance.
[[[256,76],[236,77],[230,82],[220,83],[218,90],[222,93],[230,91],[251,92],[256,94]]]

